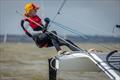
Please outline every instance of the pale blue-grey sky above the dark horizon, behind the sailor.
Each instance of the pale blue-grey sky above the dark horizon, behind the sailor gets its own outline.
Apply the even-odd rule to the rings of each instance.
[[[24,12],[27,2],[40,5],[38,15],[44,19],[53,19],[63,0],[0,0],[0,34],[24,34],[20,27],[22,16],[16,10]],[[87,35],[118,35],[120,31],[112,33],[116,24],[120,24],[120,0],[67,0],[61,14],[55,19]],[[58,34],[67,35],[70,32],[54,24],[49,30],[56,30]]]

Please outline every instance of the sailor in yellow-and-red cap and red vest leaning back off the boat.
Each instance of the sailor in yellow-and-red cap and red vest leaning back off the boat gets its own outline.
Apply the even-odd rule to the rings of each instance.
[[[66,45],[68,46],[72,51],[78,51],[79,49],[71,46],[70,44],[76,46],[74,43],[72,43],[70,40],[68,41],[70,44],[66,43],[65,41],[58,39],[56,31],[47,31],[47,26],[50,23],[49,18],[45,18],[45,25],[42,23],[41,18],[37,15],[37,11],[39,10],[39,6],[35,3],[27,3],[25,5],[25,13],[26,16],[25,19],[21,20],[21,27],[23,28],[24,32],[31,37],[36,45],[39,48],[43,47],[52,47],[54,46],[58,52],[58,54],[65,54],[66,51],[63,51],[60,46]],[[29,25],[26,26],[26,23],[29,23]],[[37,25],[37,24],[39,25]],[[55,35],[53,35],[55,34]],[[78,46],[76,46],[78,47]],[[78,47],[79,48],[79,47]]]

